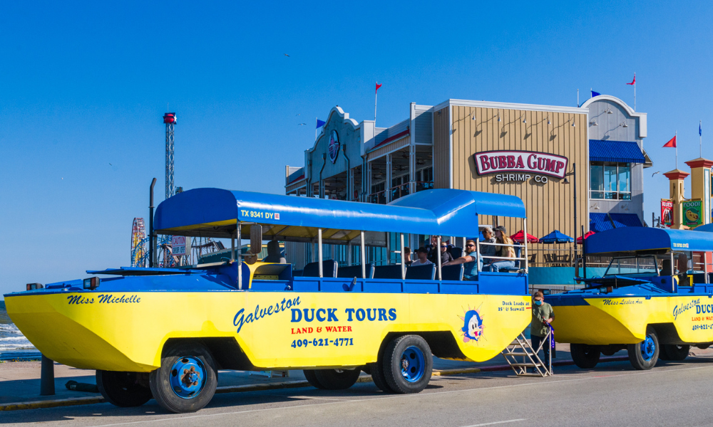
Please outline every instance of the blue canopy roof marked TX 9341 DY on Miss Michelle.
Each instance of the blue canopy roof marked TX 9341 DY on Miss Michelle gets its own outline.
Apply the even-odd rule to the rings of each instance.
[[[193,189],[158,206],[155,228],[162,234],[230,237],[241,221],[272,224],[263,235],[284,240],[314,238],[316,228],[330,230],[323,231],[324,239],[341,241],[359,231],[465,236],[478,229],[478,214],[524,218],[525,206],[515,196],[454,189],[419,191],[389,205]]]

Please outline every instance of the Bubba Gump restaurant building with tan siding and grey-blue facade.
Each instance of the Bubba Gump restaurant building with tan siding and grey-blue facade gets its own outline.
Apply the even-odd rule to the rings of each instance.
[[[643,223],[642,176],[650,166],[643,147],[646,115],[615,97],[593,97],[580,107],[411,102],[407,112],[402,122],[376,127],[332,108],[304,152],[304,167],[286,167],[286,194],[367,203],[431,188],[512,194],[524,201],[528,233],[537,237]],[[519,231],[508,218],[484,216],[479,223],[506,226],[508,234]],[[417,248],[427,237],[409,236],[406,244]],[[464,237],[445,236],[458,247]],[[387,241],[386,248],[372,249],[370,261],[398,262],[399,242],[395,236]],[[559,260],[571,263],[573,245],[535,243],[534,265],[547,262],[537,259],[538,249],[555,253],[555,247]],[[288,257],[297,268],[314,258],[309,246],[291,250],[294,257]],[[357,262],[346,259],[342,248],[332,252],[325,257]]]

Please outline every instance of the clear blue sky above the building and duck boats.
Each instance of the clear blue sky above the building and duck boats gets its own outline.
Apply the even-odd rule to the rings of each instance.
[[[0,293],[129,264],[154,176],[163,199],[167,102],[185,189],[282,193],[314,118],[373,117],[376,80],[393,125],[448,98],[575,105],[594,88],[632,104],[636,72],[648,221],[674,132],[683,165],[703,120],[713,158],[713,4],[259,3],[0,4]]]

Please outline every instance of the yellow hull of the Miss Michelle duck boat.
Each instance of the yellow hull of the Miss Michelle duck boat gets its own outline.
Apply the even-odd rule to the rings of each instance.
[[[235,338],[261,369],[360,366],[376,362],[389,332],[445,331],[466,359],[482,362],[500,353],[530,322],[530,298],[525,295],[107,295],[57,292],[8,295],[5,301],[13,322],[47,357],[73,367],[109,371],[153,371],[160,367],[168,339],[200,337]],[[473,312],[478,313],[477,321]]]

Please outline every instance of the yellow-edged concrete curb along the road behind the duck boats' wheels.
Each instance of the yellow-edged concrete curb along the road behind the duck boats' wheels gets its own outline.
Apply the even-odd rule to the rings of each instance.
[[[611,356],[602,357],[599,359],[600,362],[621,362],[624,360],[629,360],[627,356]],[[563,360],[552,362],[555,367],[563,367],[567,365],[573,365],[575,362],[573,360]],[[459,374],[477,374],[478,372],[492,372],[492,371],[508,371],[510,370],[510,365],[493,365],[489,367],[482,368],[461,368],[461,369],[434,369],[431,375],[433,376],[448,376],[448,375],[459,375]],[[371,376],[362,375],[356,380],[358,383],[372,382]],[[281,381],[275,383],[265,383],[265,384],[245,384],[242,386],[222,386],[215,389],[215,394],[224,393],[245,393],[246,391],[266,391],[266,390],[279,390],[279,389],[296,389],[299,387],[307,387],[309,382],[306,380],[294,380],[294,381]],[[55,408],[57,406],[75,406],[75,405],[90,405],[90,404],[101,404],[104,402],[102,396],[87,396],[87,397],[72,397],[69,399],[54,399],[46,401],[31,401],[31,402],[18,402],[14,404],[0,404],[0,411],[18,411],[20,409],[37,409],[37,408]]]

